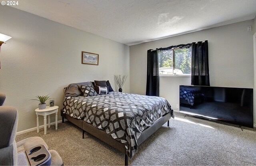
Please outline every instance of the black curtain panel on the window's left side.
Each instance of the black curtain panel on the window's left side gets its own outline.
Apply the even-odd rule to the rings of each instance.
[[[148,69],[146,95],[159,96],[158,49],[148,50]]]

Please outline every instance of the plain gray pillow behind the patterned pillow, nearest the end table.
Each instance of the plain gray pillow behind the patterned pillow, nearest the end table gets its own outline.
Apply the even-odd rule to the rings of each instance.
[[[89,81],[83,82],[83,83],[71,83],[66,88],[64,96],[73,96],[73,97],[82,96],[83,93],[82,93],[82,91],[80,91],[80,89],[78,88],[77,85],[91,85],[92,86],[92,83]]]

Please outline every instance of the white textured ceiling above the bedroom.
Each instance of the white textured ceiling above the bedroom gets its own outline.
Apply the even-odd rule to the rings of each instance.
[[[256,0],[21,0],[13,7],[127,45],[256,15]]]

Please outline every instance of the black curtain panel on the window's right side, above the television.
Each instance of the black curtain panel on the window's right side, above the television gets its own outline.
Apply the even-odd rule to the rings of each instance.
[[[210,86],[208,41],[192,43],[191,85]]]

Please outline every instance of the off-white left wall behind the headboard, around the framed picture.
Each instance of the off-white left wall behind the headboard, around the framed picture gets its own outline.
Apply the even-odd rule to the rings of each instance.
[[[12,36],[1,46],[0,92],[18,109],[18,131],[36,127],[39,102],[30,99],[50,94],[61,109],[70,83],[109,79],[118,90],[114,74],[126,74],[123,91],[130,92],[128,45],[2,5],[0,33]],[[82,64],[82,51],[98,53],[99,65]]]

